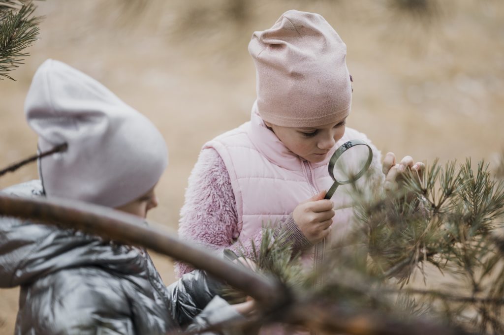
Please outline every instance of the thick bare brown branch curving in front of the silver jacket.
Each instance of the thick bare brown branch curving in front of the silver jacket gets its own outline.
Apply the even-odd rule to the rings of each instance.
[[[237,266],[209,253],[208,250],[179,240],[165,231],[148,227],[136,216],[110,208],[67,199],[58,199],[56,202],[0,194],[0,213],[67,229],[78,229],[107,240],[147,247],[193,264],[259,302],[268,302],[274,306],[284,298],[284,288],[279,282],[261,277],[243,266]]]

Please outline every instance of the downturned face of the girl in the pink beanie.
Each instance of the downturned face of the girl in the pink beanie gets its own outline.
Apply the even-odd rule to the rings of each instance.
[[[282,143],[294,154],[311,163],[322,162],[345,133],[345,118],[319,127],[282,127],[266,122]]]

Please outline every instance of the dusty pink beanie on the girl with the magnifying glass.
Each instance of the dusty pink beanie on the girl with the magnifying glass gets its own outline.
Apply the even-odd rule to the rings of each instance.
[[[287,11],[248,44],[257,70],[257,106],[263,120],[316,127],[350,112],[352,87],[346,45],[319,14]]]

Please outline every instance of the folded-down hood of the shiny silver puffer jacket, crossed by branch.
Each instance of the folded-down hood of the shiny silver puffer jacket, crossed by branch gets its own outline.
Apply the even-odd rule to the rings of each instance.
[[[3,193],[42,196],[39,180]],[[96,236],[32,221],[0,217],[0,287],[32,283],[47,274],[77,266],[96,266],[124,275],[141,275],[146,258],[138,248],[115,245]]]

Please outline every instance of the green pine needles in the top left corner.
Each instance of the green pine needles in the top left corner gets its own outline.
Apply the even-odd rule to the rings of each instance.
[[[0,79],[23,64],[25,51],[37,39],[40,17],[31,0],[0,0]]]

